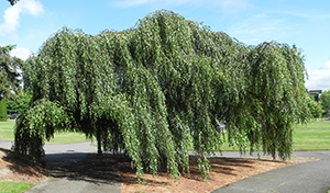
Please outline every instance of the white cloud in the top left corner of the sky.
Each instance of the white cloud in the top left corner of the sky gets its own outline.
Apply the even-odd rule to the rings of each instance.
[[[44,9],[42,3],[36,0],[20,0],[15,5],[4,11],[4,21],[0,24],[0,35],[15,37],[15,30],[20,26],[21,13],[36,16],[44,13]]]

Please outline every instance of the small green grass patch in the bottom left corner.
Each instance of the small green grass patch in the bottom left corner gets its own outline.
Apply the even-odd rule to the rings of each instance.
[[[21,193],[31,189],[33,183],[0,181],[0,193]]]

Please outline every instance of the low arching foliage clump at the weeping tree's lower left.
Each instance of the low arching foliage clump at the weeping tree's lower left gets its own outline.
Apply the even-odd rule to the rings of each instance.
[[[35,101],[16,121],[14,151],[29,155],[33,160],[41,159],[44,140],[50,140],[57,128],[67,128],[69,122],[70,115],[55,102],[46,99]]]

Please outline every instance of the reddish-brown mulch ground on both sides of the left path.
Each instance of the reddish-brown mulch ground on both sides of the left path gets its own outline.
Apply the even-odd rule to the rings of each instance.
[[[0,148],[0,180],[38,183],[48,175],[44,166],[31,163],[28,160],[18,159],[10,155],[10,150]],[[196,159],[190,159],[190,174],[179,177],[175,181],[172,175],[162,171],[157,177],[144,174],[145,183],[139,184],[135,171],[127,158],[120,157],[94,157],[94,164],[102,166],[102,170],[116,170],[121,180],[122,193],[200,193],[212,192],[232,182],[249,178],[262,172],[283,168],[292,164],[302,163],[309,159],[295,158],[283,162],[271,159],[251,158],[212,158],[210,159],[212,171],[207,181],[200,179]],[[100,172],[100,171],[98,171]],[[98,173],[101,174],[101,173]]]

